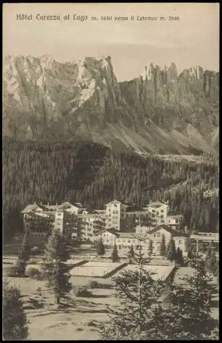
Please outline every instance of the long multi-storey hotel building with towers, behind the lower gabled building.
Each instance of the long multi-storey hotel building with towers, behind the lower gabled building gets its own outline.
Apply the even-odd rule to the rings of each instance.
[[[53,228],[58,228],[69,239],[94,241],[94,235],[102,229],[125,230],[127,218],[137,221],[139,218],[151,220],[149,228],[168,225],[177,229],[182,222],[182,215],[169,215],[169,205],[163,202],[151,202],[143,209],[130,203],[113,200],[105,209],[89,210],[80,203],[71,204],[29,204],[22,211],[24,230],[31,235],[49,235]],[[132,228],[136,230],[135,228]],[[147,228],[148,229],[148,228]]]

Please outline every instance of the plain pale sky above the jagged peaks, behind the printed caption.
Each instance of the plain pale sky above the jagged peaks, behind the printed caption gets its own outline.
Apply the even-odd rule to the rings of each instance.
[[[16,14],[33,19],[19,21]],[[60,21],[39,21],[36,14],[60,15]],[[64,21],[66,14],[88,19]],[[114,21],[132,15],[134,21]],[[112,20],[101,21],[101,16]],[[139,21],[138,16],[166,20]],[[180,20],[169,21],[169,16]],[[219,71],[219,3],[3,4],[3,58],[45,54],[60,62],[109,55],[119,81],[138,77],[151,62],[160,67],[175,62],[179,72],[197,65]]]

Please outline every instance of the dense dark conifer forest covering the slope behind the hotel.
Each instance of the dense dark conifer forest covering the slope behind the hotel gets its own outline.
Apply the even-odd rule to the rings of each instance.
[[[4,238],[22,228],[20,213],[27,204],[67,200],[103,209],[114,198],[135,206],[169,200],[171,212],[184,215],[190,230],[215,231],[219,197],[205,199],[203,192],[219,187],[218,166],[215,154],[195,163],[143,158],[90,142],[3,139]]]

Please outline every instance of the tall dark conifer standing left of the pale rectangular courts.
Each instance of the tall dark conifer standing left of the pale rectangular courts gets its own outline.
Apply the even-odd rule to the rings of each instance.
[[[56,303],[71,290],[69,279],[69,266],[66,261],[70,259],[66,239],[59,230],[53,230],[45,248],[43,274],[49,288],[53,290]]]

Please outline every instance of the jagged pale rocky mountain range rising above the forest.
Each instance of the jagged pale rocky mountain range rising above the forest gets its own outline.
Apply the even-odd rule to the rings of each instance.
[[[3,135],[95,141],[139,154],[195,154],[219,145],[219,73],[149,64],[118,82],[110,56],[57,62],[8,56]]]

